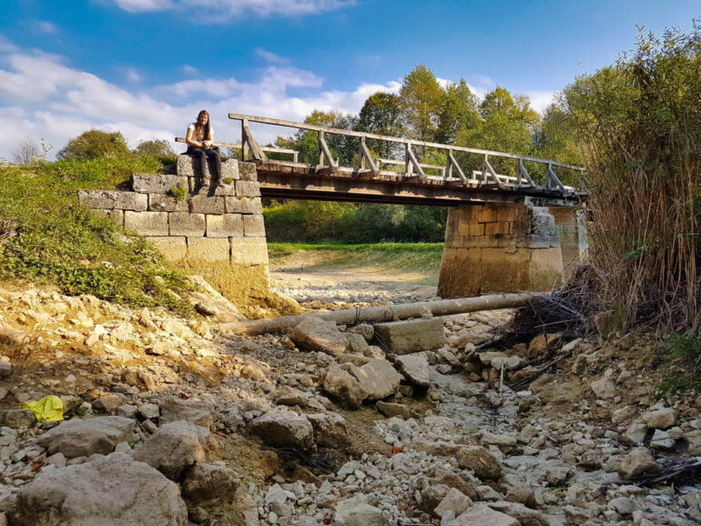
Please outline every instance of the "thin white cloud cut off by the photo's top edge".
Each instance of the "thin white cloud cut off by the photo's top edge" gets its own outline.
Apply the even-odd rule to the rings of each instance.
[[[128,13],[175,11],[201,23],[229,22],[242,13],[259,16],[319,15],[355,5],[356,0],[114,0]],[[200,15],[201,14],[201,15]]]

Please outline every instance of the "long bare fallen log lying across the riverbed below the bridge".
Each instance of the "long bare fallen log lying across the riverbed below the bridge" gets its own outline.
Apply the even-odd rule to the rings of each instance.
[[[250,321],[232,321],[216,326],[222,331],[235,334],[265,334],[290,329],[309,316],[318,316],[336,323],[355,325],[363,322],[395,321],[399,319],[422,318],[424,315],[434,317],[450,316],[480,310],[515,309],[527,305],[533,299],[542,298],[542,294],[489,294],[476,298],[440,299],[438,301],[421,301],[418,303],[401,303],[362,309],[344,309],[331,312],[299,314],[273,319],[253,319]]]

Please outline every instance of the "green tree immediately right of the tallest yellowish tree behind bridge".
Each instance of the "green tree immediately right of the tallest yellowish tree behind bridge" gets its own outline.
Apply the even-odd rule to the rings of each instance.
[[[451,83],[445,90],[441,114],[438,118],[436,141],[452,144],[462,129],[472,129],[480,124],[477,110],[477,97],[472,94],[470,86],[463,78]]]

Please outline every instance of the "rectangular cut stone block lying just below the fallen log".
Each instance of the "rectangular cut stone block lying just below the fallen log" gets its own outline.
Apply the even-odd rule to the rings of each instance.
[[[374,328],[375,338],[393,354],[440,349],[445,343],[440,318],[376,323]]]

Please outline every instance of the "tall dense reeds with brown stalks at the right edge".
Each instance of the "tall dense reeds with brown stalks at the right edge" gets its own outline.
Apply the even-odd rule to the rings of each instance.
[[[639,37],[568,86],[590,192],[587,289],[625,325],[699,329],[701,34]]]

